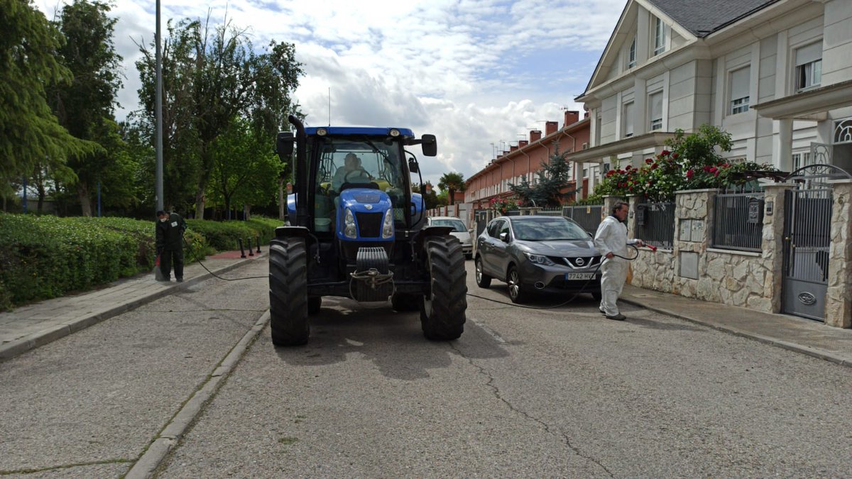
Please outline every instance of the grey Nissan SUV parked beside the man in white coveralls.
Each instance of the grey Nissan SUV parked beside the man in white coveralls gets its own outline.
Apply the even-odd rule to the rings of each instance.
[[[591,293],[601,299],[601,255],[594,240],[562,216],[499,216],[476,238],[476,284],[509,285],[513,303],[534,293]]]

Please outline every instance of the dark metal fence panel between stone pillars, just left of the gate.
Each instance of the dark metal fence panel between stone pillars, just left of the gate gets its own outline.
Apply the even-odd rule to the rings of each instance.
[[[711,246],[762,251],[763,193],[723,193],[714,201]]]

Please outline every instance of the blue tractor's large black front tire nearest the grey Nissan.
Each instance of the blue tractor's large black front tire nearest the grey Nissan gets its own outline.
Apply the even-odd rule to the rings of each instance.
[[[468,308],[462,244],[453,236],[434,236],[425,247],[431,287],[420,300],[423,335],[431,341],[457,339]]]

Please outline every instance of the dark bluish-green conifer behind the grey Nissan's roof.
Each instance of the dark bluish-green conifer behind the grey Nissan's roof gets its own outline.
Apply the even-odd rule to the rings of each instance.
[[[519,185],[509,183],[509,189],[517,194],[525,205],[555,208],[576,193],[576,190],[566,191],[571,181],[571,164],[565,159],[568,153],[559,153],[559,144],[556,141],[554,145],[550,162],[542,162],[541,170],[536,171],[537,184],[533,186],[526,179]]]

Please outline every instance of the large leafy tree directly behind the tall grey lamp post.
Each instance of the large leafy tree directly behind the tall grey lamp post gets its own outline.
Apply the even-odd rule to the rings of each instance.
[[[272,42],[268,52],[257,54],[245,32],[230,22],[213,27],[210,19],[204,25],[199,20],[182,20],[170,26],[170,38],[169,67],[164,60],[163,70],[164,110],[170,102],[173,140],[176,136],[190,140],[190,132],[194,137],[195,141],[177,145],[182,154],[193,156],[196,165],[194,175],[180,181],[194,183],[195,216],[201,218],[216,162],[216,139],[231,127],[234,118],[250,118],[272,145],[274,133],[285,128],[285,118],[293,109],[290,94],[302,68],[290,43]],[[140,96],[145,97],[147,121],[153,124],[153,55],[140,49],[144,55],[137,62],[142,78]]]

